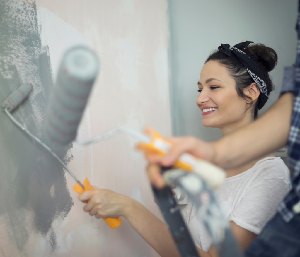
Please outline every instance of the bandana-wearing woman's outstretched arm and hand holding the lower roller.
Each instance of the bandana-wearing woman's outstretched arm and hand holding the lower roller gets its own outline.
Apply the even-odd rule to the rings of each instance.
[[[79,195],[89,202],[83,210],[96,218],[123,216],[135,231],[162,257],[180,257],[167,225],[142,204],[111,190],[93,187]]]

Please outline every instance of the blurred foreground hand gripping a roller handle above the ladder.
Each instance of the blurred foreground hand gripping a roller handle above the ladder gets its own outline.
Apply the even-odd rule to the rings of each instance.
[[[173,147],[164,156],[158,154],[148,154],[149,161],[147,173],[152,185],[161,189],[166,186],[161,175],[161,166],[172,166],[183,153],[190,153],[200,159],[214,162],[214,143],[205,142],[193,136],[168,138],[173,143]]]

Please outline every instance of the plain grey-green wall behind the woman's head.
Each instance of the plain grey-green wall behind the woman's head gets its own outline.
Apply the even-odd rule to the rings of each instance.
[[[196,106],[197,81],[205,59],[220,45],[249,40],[272,47],[278,54],[271,71],[275,90],[261,112],[280,93],[283,67],[295,62],[297,0],[170,0],[170,98],[173,135],[205,140],[222,136],[202,126]]]

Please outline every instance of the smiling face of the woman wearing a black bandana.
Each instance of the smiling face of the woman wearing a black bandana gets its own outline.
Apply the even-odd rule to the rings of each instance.
[[[198,81],[199,96],[196,103],[202,111],[205,127],[223,128],[243,123],[248,104],[238,96],[235,80],[217,61],[208,61]]]

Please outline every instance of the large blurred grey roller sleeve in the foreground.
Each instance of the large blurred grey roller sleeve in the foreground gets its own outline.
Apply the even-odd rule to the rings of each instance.
[[[98,69],[98,57],[85,46],[64,54],[44,126],[51,142],[66,145],[75,139]]]

